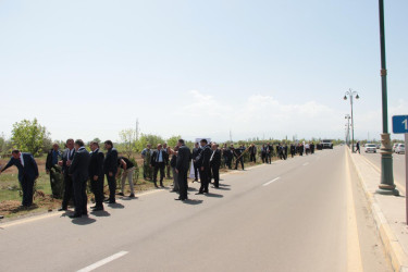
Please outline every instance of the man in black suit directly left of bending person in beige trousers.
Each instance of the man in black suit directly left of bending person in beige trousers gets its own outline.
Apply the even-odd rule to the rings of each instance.
[[[107,175],[109,185],[109,198],[106,200],[108,203],[115,203],[116,193],[116,173],[118,173],[118,150],[113,147],[112,140],[104,141],[104,149],[108,150],[103,161],[103,172]]]

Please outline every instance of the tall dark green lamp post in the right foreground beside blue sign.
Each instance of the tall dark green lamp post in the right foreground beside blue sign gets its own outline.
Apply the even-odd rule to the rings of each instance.
[[[376,193],[382,195],[398,196],[395,188],[393,174],[393,150],[388,133],[388,109],[386,87],[386,61],[385,61],[385,30],[384,30],[384,0],[379,0],[380,10],[380,46],[381,46],[381,90],[383,110],[383,133],[381,134],[381,184]]]

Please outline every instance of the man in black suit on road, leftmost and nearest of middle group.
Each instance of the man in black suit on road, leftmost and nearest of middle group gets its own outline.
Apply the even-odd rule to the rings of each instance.
[[[175,171],[178,178],[180,197],[175,200],[187,199],[187,173],[189,168],[189,161],[191,160],[191,152],[188,147],[185,146],[184,139],[178,139],[178,153],[175,164]]]

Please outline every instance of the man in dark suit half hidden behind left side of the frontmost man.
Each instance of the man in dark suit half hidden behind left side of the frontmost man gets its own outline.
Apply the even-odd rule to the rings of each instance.
[[[58,162],[60,166],[62,166],[62,173],[64,174],[64,196],[62,198],[62,206],[59,211],[66,211],[69,202],[71,198],[73,198],[74,187],[72,183],[72,177],[70,175],[70,166],[72,163],[72,159],[74,159],[75,148],[74,148],[74,139],[66,140],[66,149],[62,153],[62,160]]]

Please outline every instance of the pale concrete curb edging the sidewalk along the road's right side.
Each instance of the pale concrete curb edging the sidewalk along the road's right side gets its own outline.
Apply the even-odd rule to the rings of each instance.
[[[354,169],[360,180],[361,187],[366,193],[367,200],[369,201],[370,212],[373,214],[376,230],[379,232],[381,242],[384,245],[385,252],[391,260],[394,271],[408,272],[408,256],[404,251],[399,240],[395,236],[394,232],[390,227],[390,224],[381,210],[379,202],[375,199],[375,195],[370,193],[367,188],[364,178],[357,168],[355,159],[351,156],[351,151],[348,149],[348,156],[353,161]],[[370,165],[371,166],[371,165]]]

